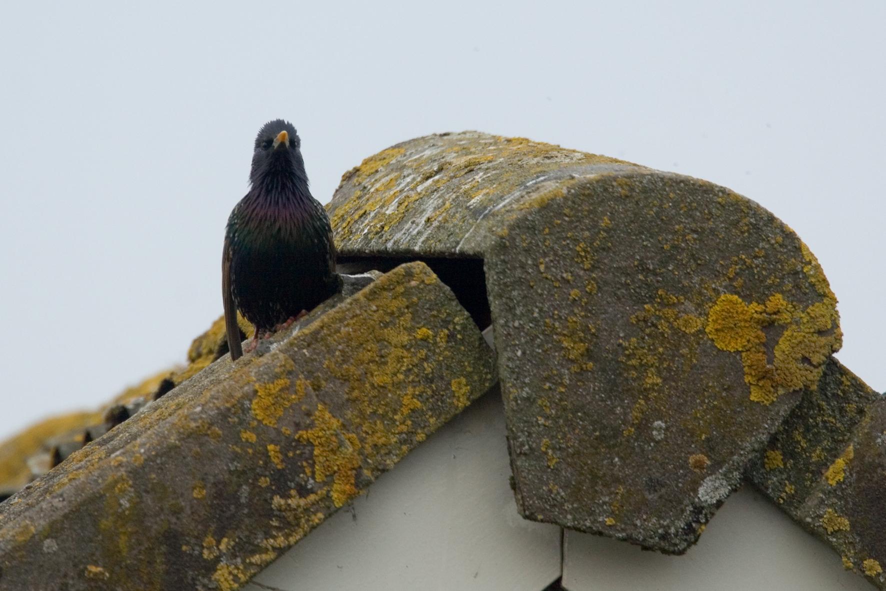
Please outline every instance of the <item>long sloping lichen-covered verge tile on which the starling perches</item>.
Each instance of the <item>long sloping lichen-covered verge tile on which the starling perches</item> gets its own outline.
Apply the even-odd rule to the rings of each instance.
[[[495,382],[406,264],[225,357],[0,506],[0,589],[232,591]]]

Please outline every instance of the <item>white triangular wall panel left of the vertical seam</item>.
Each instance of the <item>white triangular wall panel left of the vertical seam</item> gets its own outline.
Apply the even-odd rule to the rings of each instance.
[[[245,588],[540,591],[560,576],[561,531],[517,514],[509,475],[491,392]]]

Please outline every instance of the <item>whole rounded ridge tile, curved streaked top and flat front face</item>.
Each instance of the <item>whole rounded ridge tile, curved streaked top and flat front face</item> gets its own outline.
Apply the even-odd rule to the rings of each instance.
[[[681,553],[842,335],[803,242],[695,178],[478,132],[342,178],[341,252],[481,257],[524,516]]]

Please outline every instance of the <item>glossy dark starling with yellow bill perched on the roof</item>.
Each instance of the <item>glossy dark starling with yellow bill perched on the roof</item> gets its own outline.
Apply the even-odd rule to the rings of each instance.
[[[307,188],[300,144],[282,119],[259,130],[249,192],[228,218],[221,294],[231,359],[243,355],[237,310],[255,326],[254,346],[341,286],[330,218]]]

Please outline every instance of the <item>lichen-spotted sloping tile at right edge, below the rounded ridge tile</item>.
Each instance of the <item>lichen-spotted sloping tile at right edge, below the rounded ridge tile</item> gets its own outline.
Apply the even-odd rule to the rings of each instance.
[[[886,398],[830,360],[747,476],[835,560],[886,589]]]

